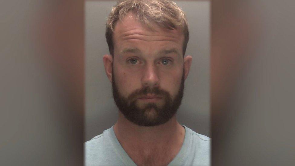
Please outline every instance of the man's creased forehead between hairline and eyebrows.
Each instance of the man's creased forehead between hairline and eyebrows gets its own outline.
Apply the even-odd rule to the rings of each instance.
[[[169,30],[151,23],[153,29],[148,28],[129,13],[115,25],[113,42],[114,52],[118,53],[126,48],[156,51],[159,49],[176,48],[182,53],[184,35],[181,28]]]

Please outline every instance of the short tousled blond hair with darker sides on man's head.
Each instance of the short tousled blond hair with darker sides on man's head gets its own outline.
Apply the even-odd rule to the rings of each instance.
[[[115,5],[106,23],[105,37],[110,54],[114,54],[113,33],[115,24],[130,12],[136,14],[136,18],[148,28],[153,29],[151,23],[167,29],[182,28],[184,34],[183,56],[189,40],[189,31],[185,13],[175,2],[168,0],[120,0]]]

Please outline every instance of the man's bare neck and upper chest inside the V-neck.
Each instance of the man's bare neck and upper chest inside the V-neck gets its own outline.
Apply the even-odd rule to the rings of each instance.
[[[185,135],[175,115],[162,125],[145,127],[128,121],[121,112],[114,132],[137,165],[168,165],[180,151]]]

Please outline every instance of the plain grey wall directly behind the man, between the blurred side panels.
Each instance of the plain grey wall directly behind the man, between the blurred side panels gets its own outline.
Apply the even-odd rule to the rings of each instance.
[[[193,57],[177,119],[180,124],[210,136],[210,2],[175,2],[186,12],[190,31],[186,55]],[[102,62],[102,56],[109,54],[104,36],[106,17],[115,3],[100,0],[85,2],[85,141],[110,128],[118,117],[112,86]]]

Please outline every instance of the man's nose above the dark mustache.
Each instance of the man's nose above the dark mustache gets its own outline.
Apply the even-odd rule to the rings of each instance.
[[[141,81],[144,87],[154,88],[159,86],[159,76],[155,64],[146,65]]]

